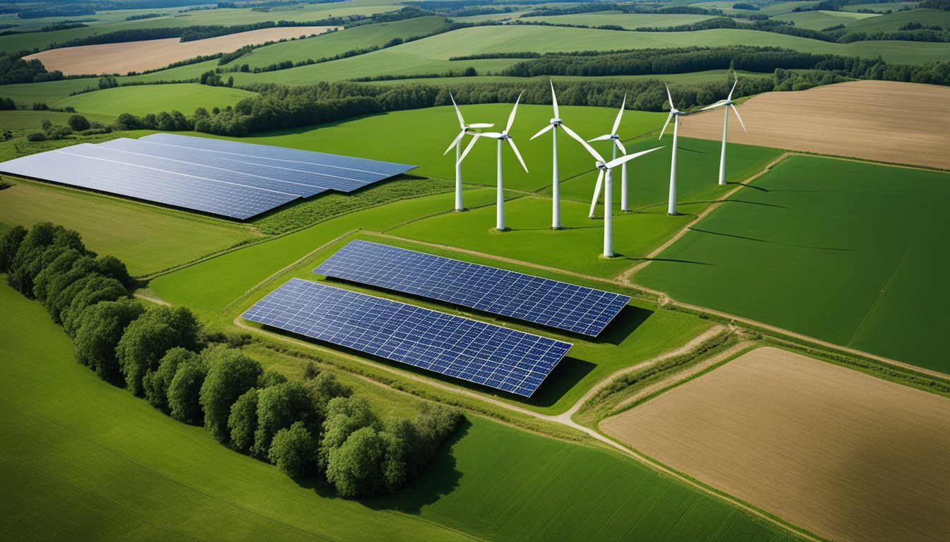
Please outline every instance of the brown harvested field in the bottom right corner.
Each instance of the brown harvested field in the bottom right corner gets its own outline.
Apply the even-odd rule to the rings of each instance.
[[[830,539],[950,533],[950,400],[937,395],[764,347],[600,427]]]

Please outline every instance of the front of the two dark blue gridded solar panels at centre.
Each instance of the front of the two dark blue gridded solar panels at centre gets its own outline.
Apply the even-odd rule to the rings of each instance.
[[[444,312],[291,279],[244,318],[530,397],[569,343]]]

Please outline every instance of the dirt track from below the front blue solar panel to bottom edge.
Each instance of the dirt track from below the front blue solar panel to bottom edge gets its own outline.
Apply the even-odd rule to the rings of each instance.
[[[359,357],[357,357],[357,356],[353,356],[353,355],[351,355],[351,354],[347,354],[347,353],[344,353],[344,352],[340,352],[340,351],[337,351],[337,350],[333,350],[332,348],[329,348],[329,347],[314,345],[313,343],[308,343],[308,342],[306,342],[306,341],[302,341],[302,340],[299,340],[299,339],[295,339],[295,338],[293,338],[293,337],[286,337],[286,336],[283,336],[283,335],[280,335],[280,334],[277,334],[277,333],[274,333],[274,332],[271,332],[271,331],[267,331],[266,329],[262,329],[262,328],[258,328],[258,327],[253,327],[253,326],[248,326],[247,324],[244,324],[243,322],[240,321],[240,316],[236,316],[236,317],[235,317],[235,319],[234,319],[234,324],[235,324],[237,327],[240,327],[240,328],[245,329],[245,330],[247,330],[247,331],[251,331],[251,332],[254,332],[254,333],[257,333],[257,334],[261,334],[261,335],[265,335],[265,336],[268,336],[268,337],[271,337],[271,338],[275,338],[275,339],[280,340],[280,341],[284,341],[284,342],[287,342],[287,343],[295,344],[295,345],[297,345],[297,346],[304,346],[304,347],[309,348],[309,349],[312,349],[312,350],[326,351],[326,352],[332,353],[333,355],[336,355],[336,356],[345,357],[346,359],[352,360],[352,361],[354,361],[354,362],[356,362],[356,363],[359,363],[359,364],[365,364],[365,365],[368,365],[368,366],[372,366],[373,368],[383,369],[383,370],[385,370],[385,371],[387,371],[387,372],[390,372],[390,373],[392,373],[392,374],[394,374],[394,375],[397,375],[397,376],[400,377],[400,378],[406,378],[406,379],[409,379],[409,380],[411,380],[411,381],[413,381],[413,382],[428,384],[428,385],[431,385],[431,386],[440,388],[440,389],[442,389],[442,390],[444,390],[444,391],[447,391],[447,392],[450,392],[450,393],[465,395],[466,397],[475,399],[475,400],[477,400],[477,401],[488,402],[488,403],[490,403],[490,404],[493,404],[493,405],[495,405],[495,406],[504,408],[504,409],[506,409],[506,410],[510,410],[510,411],[512,411],[512,412],[517,412],[517,413],[519,413],[519,414],[522,414],[522,415],[525,415],[525,416],[529,416],[529,417],[532,417],[532,418],[535,418],[535,419],[538,419],[538,420],[542,420],[542,421],[552,421],[552,422],[559,423],[559,424],[561,424],[561,425],[565,425],[565,426],[567,426],[567,427],[576,429],[576,430],[580,431],[581,433],[586,434],[587,436],[589,436],[589,437],[591,437],[591,438],[593,438],[593,439],[598,440],[600,443],[606,444],[606,445],[609,446],[611,449],[613,449],[613,450],[619,452],[621,455],[623,455],[623,456],[625,456],[625,457],[633,458],[633,459],[635,459],[637,462],[639,462],[639,463],[641,463],[641,464],[647,466],[648,468],[654,469],[654,470],[656,470],[656,471],[658,471],[658,472],[660,472],[660,473],[662,473],[662,474],[664,474],[664,475],[667,475],[667,476],[669,476],[669,477],[674,477],[675,479],[679,480],[681,483],[684,483],[684,484],[686,484],[686,485],[688,485],[688,486],[690,486],[690,487],[693,487],[694,489],[696,489],[697,491],[699,491],[699,492],[701,492],[701,493],[704,493],[704,494],[706,494],[706,495],[712,495],[712,497],[718,498],[719,500],[721,500],[721,501],[723,501],[723,502],[726,502],[727,504],[730,504],[731,506],[735,506],[735,507],[737,507],[737,508],[740,508],[740,509],[742,509],[743,511],[745,511],[745,512],[748,513],[748,514],[752,514],[752,515],[754,515],[754,516],[756,516],[756,517],[759,517],[759,518],[761,518],[761,519],[763,519],[763,520],[769,522],[769,523],[772,524],[772,525],[775,525],[776,527],[779,527],[780,529],[783,529],[783,530],[785,530],[785,531],[788,531],[788,533],[793,533],[793,534],[795,534],[796,536],[806,538],[806,539],[808,539],[808,540],[811,540],[812,542],[822,542],[822,540],[821,540],[820,538],[816,538],[816,537],[814,537],[813,535],[811,535],[811,534],[809,534],[809,533],[804,533],[803,531],[800,531],[799,528],[797,528],[797,527],[795,527],[795,526],[793,526],[793,525],[791,525],[791,524],[789,524],[789,523],[785,523],[784,521],[779,520],[779,519],[777,519],[776,517],[771,516],[770,514],[767,514],[767,513],[763,512],[763,511],[760,511],[760,510],[756,509],[755,507],[751,506],[750,504],[747,504],[747,503],[745,503],[745,502],[742,502],[741,500],[737,499],[736,497],[733,497],[733,496],[731,496],[731,495],[726,495],[726,494],[724,494],[724,493],[719,493],[719,492],[717,492],[717,491],[713,491],[711,487],[708,487],[708,486],[706,486],[706,485],[704,485],[704,484],[702,484],[702,483],[699,483],[698,481],[693,480],[691,477],[687,477],[687,476],[685,476],[685,475],[683,475],[683,474],[681,474],[681,473],[675,471],[674,469],[671,469],[670,467],[667,467],[666,465],[663,465],[663,464],[661,464],[661,463],[658,463],[658,462],[654,461],[653,459],[648,458],[648,457],[646,457],[646,456],[640,454],[640,453],[637,452],[636,450],[633,450],[633,449],[627,447],[627,446],[624,445],[624,444],[621,444],[620,442],[618,442],[618,441],[616,441],[616,440],[614,440],[614,439],[610,439],[610,438],[606,437],[605,435],[601,434],[598,430],[592,429],[592,428],[590,428],[590,427],[587,427],[586,425],[581,425],[580,423],[578,423],[578,422],[576,422],[576,421],[572,421],[572,420],[564,421],[564,420],[561,420],[561,418],[560,418],[559,416],[550,416],[550,415],[546,415],[546,414],[541,414],[541,413],[539,413],[539,412],[535,412],[535,411],[533,411],[533,410],[529,410],[529,409],[524,408],[524,407],[522,407],[522,406],[518,406],[518,405],[515,405],[515,404],[509,404],[509,403],[507,403],[507,402],[500,401],[500,400],[497,400],[497,399],[494,399],[494,398],[490,398],[490,397],[485,397],[485,396],[483,396],[483,395],[481,395],[481,394],[479,394],[479,393],[477,393],[477,392],[468,390],[468,389],[463,388],[463,387],[458,387],[458,386],[454,386],[454,385],[451,385],[451,384],[448,384],[448,383],[438,382],[438,381],[435,381],[435,380],[432,380],[432,379],[428,379],[428,378],[426,378],[426,377],[423,377],[423,376],[421,376],[421,375],[416,375],[416,374],[407,373],[406,371],[401,371],[401,370],[399,370],[399,369],[396,368],[396,367],[390,367],[390,366],[387,366],[387,365],[384,365],[384,364],[374,364],[374,363],[372,363],[372,362],[369,361],[369,360],[364,360],[364,359],[361,359],[361,358],[359,358]],[[368,377],[366,377],[366,378],[368,378]],[[388,384],[386,384],[386,383],[380,383],[380,382],[372,381],[371,379],[368,379],[368,380],[370,380],[370,382],[376,383],[377,385],[385,386],[385,387],[391,389],[391,386],[388,385]],[[490,418],[490,415],[486,415],[486,413],[471,412],[469,409],[465,409],[465,410],[468,411],[468,412],[470,412],[471,414],[473,414],[473,415],[475,415],[475,416],[482,416],[482,417],[488,417],[488,418]],[[493,419],[493,420],[495,420],[495,419]],[[530,431],[530,430],[528,430],[528,429],[525,429],[524,427],[519,427],[519,429],[520,429],[520,430],[527,430],[527,431],[529,431],[529,432],[533,432],[533,431]],[[554,437],[554,436],[552,436],[552,435],[544,435],[544,437],[557,439],[557,437]],[[580,443],[580,445],[584,445],[584,444],[583,444],[583,443]]]

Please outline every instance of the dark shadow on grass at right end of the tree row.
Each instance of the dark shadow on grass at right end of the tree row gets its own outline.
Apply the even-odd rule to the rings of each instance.
[[[362,498],[359,502],[372,510],[392,510],[418,515],[424,506],[433,504],[455,491],[455,488],[459,487],[462,473],[456,468],[452,448],[465,438],[471,426],[471,421],[463,419],[455,431],[439,445],[435,455],[416,477],[401,490],[391,495]]]

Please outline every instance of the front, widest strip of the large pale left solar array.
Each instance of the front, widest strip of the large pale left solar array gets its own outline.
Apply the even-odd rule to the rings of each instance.
[[[0,172],[241,219],[297,198],[58,150],[0,162]]]

